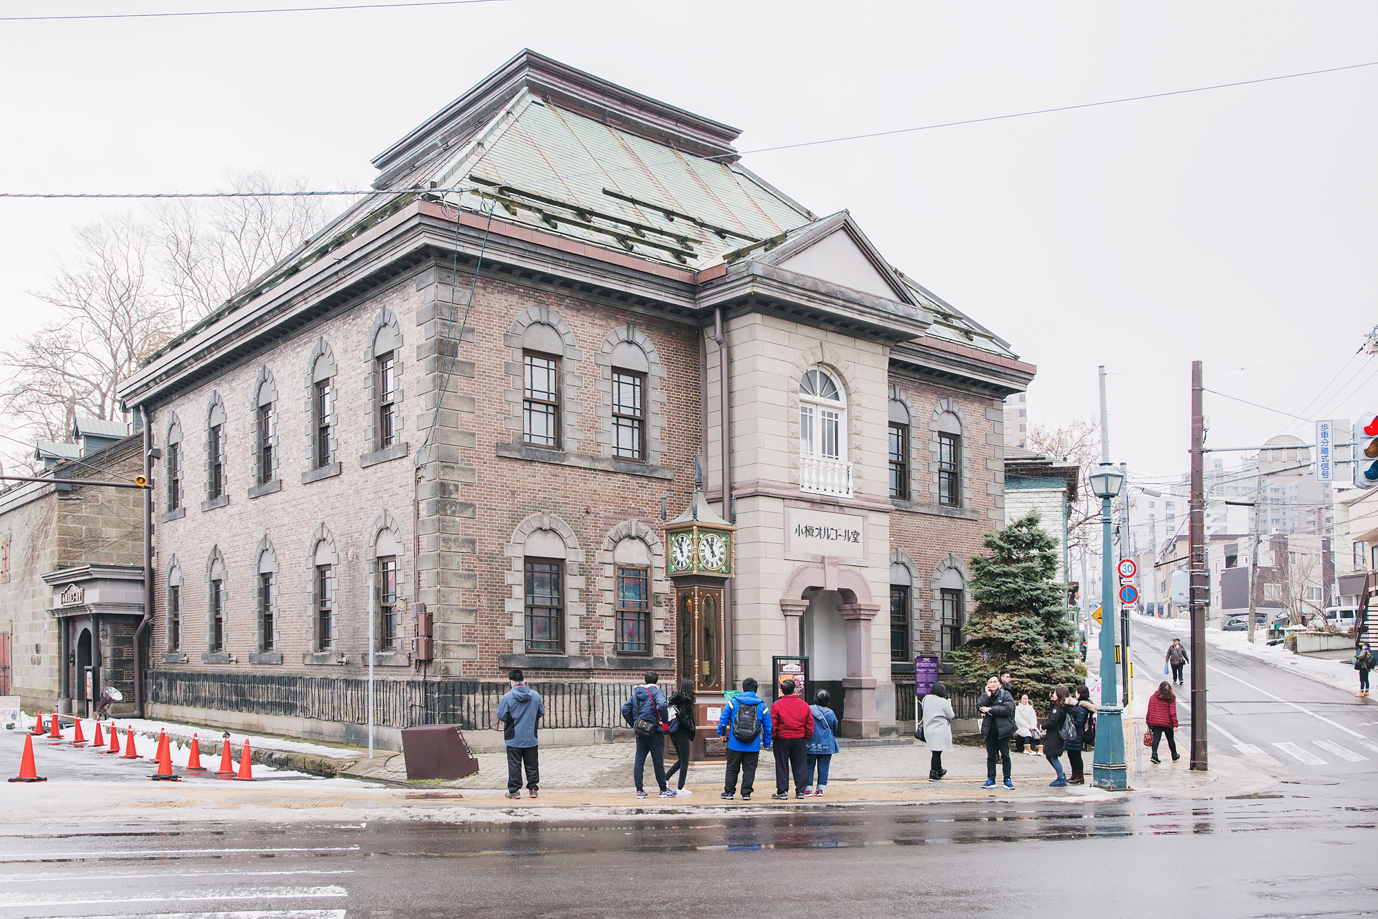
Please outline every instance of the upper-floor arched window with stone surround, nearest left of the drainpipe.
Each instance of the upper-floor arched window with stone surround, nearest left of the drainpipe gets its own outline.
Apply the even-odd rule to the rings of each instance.
[[[608,333],[598,353],[598,432],[604,457],[661,465],[666,368],[655,342],[633,324]]]

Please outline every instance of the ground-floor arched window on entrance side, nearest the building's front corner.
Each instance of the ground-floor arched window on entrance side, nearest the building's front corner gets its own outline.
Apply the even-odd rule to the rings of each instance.
[[[579,654],[587,640],[583,628],[584,551],[573,528],[548,511],[533,513],[513,530],[507,557],[513,560],[507,573],[513,591],[507,611],[513,618],[506,636],[513,643],[513,654]],[[550,628],[536,628],[528,609],[533,614],[539,611],[542,625]],[[542,647],[536,647],[537,643]],[[548,647],[553,643],[557,647]]]

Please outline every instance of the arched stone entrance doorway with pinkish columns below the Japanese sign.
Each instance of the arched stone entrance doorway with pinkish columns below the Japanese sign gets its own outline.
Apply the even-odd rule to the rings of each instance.
[[[879,737],[875,678],[871,673],[871,621],[881,606],[853,566],[824,559],[801,564],[780,595],[785,654],[809,654],[814,682],[841,682],[841,731],[845,737]]]

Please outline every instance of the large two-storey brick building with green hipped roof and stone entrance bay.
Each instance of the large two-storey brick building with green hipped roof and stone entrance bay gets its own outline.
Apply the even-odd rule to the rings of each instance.
[[[522,52],[125,381],[161,450],[152,713],[358,737],[372,643],[384,741],[489,726],[510,666],[550,726],[610,727],[675,671],[661,524],[701,455],[729,678],[802,651],[852,733],[893,727],[1034,367],[737,134]]]

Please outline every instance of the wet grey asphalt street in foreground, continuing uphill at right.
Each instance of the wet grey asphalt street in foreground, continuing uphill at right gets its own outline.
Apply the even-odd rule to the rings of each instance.
[[[1160,672],[1170,640],[1135,617],[1140,675]],[[10,814],[0,919],[1046,916],[1091,905],[1126,915],[1370,913],[1378,894],[1367,871],[1378,814],[1371,704],[1239,654],[1213,654],[1209,673],[1213,762],[1266,766],[1280,777],[1272,789],[734,814],[704,788],[690,799],[697,807],[613,817],[525,809],[467,822],[350,820],[346,806],[302,822],[233,811],[178,820],[164,810],[158,820],[134,811],[91,824],[73,800],[69,821],[32,825]],[[1184,738],[1186,712],[1184,701]],[[123,771],[138,778],[152,767]],[[317,787],[234,792],[252,802],[267,788],[300,788],[309,809]]]

